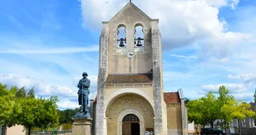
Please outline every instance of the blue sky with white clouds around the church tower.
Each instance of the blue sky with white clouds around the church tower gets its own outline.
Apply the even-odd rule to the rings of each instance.
[[[76,108],[86,71],[94,98],[102,21],[129,0],[0,0],[0,82]],[[194,99],[225,85],[254,101],[256,1],[133,0],[162,33],[164,91]],[[216,95],[218,96],[218,95]]]

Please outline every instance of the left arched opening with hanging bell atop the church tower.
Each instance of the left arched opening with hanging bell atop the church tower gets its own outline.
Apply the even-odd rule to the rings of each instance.
[[[117,30],[117,48],[126,48],[126,26],[123,24]]]

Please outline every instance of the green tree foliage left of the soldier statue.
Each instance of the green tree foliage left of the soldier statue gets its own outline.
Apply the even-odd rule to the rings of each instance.
[[[34,88],[27,93],[25,87],[8,89],[0,83],[0,125],[23,125],[29,135],[34,126],[45,128],[56,125],[59,122],[57,101],[56,96],[50,99],[35,98]]]

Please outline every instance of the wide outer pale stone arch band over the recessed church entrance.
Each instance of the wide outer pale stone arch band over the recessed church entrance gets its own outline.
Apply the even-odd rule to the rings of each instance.
[[[149,102],[149,104],[151,105],[153,112],[155,114],[154,100],[150,96],[148,96],[148,94],[144,93],[144,91],[140,91],[139,89],[124,88],[124,89],[120,89],[119,91],[115,91],[108,96],[108,100],[106,100],[104,102],[104,105],[105,105],[104,116],[105,116],[105,112],[108,108],[108,105],[111,105],[112,101],[115,101],[116,98],[121,97],[123,94],[138,94],[138,95],[140,95],[141,97],[143,97],[145,100],[147,100]]]

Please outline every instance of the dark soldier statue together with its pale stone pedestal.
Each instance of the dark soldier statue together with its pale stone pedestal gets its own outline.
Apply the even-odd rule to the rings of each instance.
[[[78,94],[78,104],[81,105],[81,111],[76,112],[76,115],[73,116],[73,135],[91,135],[91,115],[89,112],[88,102],[89,102],[89,87],[91,81],[87,79],[88,74],[83,73],[83,78],[77,84],[79,88]]]

